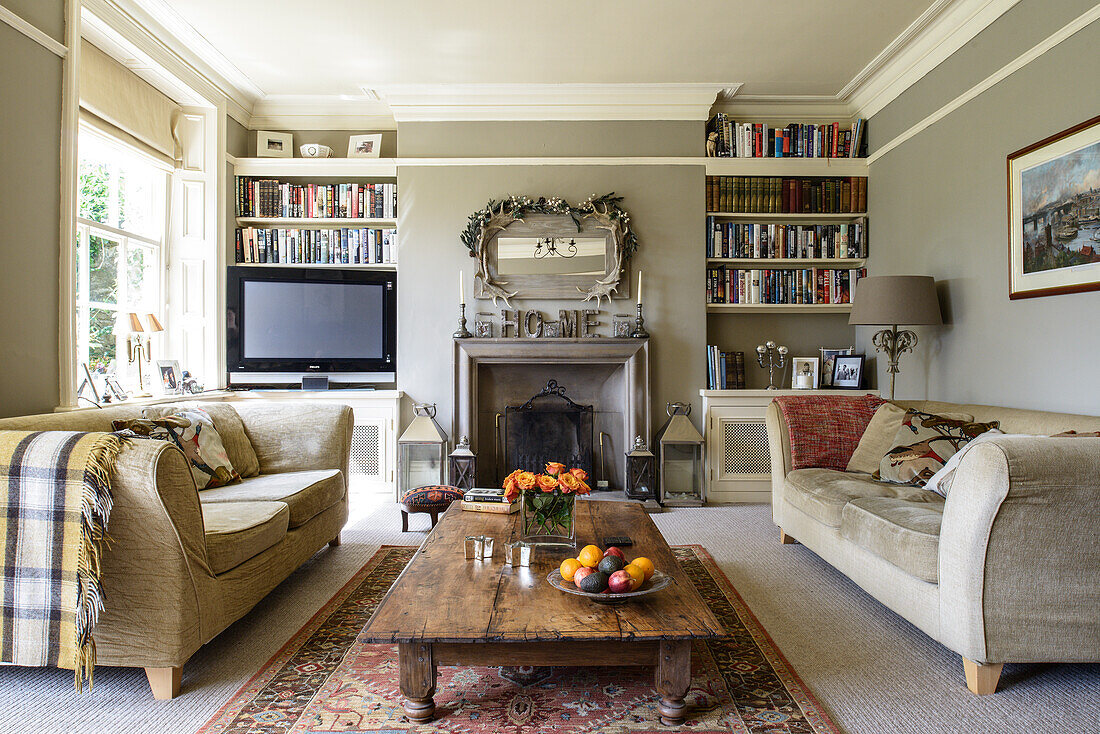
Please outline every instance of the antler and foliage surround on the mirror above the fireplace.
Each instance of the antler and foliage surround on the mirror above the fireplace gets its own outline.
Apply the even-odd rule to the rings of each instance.
[[[485,247],[490,239],[513,222],[522,221],[527,215],[559,215],[570,217],[578,230],[587,219],[594,221],[597,229],[610,232],[615,243],[615,267],[587,291],[578,288],[585,294],[584,300],[595,298],[598,305],[601,298],[607,298],[610,304],[612,294],[618,291],[623,269],[638,249],[638,238],[630,228],[630,215],[623,209],[622,201],[623,197],[615,196],[614,191],[603,196],[593,194],[575,206],[557,197],[531,199],[527,196],[512,196],[501,201],[490,199],[484,209],[470,215],[466,229],[462,232],[462,243],[470,251],[470,256],[477,259],[477,277],[484,295],[493,299],[494,306],[499,298],[512,308],[508,299],[518,293],[505,291],[502,286],[507,285],[506,281],[493,281],[488,272],[488,248]]]

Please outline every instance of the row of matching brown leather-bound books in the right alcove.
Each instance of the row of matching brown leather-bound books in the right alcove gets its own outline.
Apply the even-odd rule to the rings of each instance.
[[[761,213],[867,211],[867,176],[707,176],[706,210]]]

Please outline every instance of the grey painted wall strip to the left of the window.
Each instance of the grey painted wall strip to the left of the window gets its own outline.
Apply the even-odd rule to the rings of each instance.
[[[62,0],[12,9],[64,36]],[[0,416],[12,416],[59,401],[62,59],[0,24]]]

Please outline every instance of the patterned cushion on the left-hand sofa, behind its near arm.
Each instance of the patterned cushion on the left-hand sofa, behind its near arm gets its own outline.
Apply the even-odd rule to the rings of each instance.
[[[229,461],[210,414],[202,408],[190,407],[158,418],[114,420],[112,427],[122,435],[175,443],[187,457],[195,486],[200,490],[241,481],[241,475]]]

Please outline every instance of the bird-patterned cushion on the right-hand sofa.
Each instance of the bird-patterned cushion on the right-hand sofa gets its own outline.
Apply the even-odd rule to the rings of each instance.
[[[909,409],[879,471],[872,476],[883,482],[924,486],[960,448],[976,436],[1000,425],[997,420],[971,423]]]

